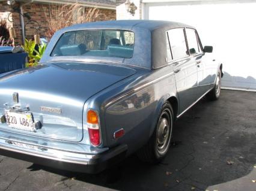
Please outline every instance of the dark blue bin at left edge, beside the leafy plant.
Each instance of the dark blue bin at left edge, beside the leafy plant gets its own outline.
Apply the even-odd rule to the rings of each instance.
[[[0,47],[0,74],[25,68],[27,53],[13,53],[13,47]]]

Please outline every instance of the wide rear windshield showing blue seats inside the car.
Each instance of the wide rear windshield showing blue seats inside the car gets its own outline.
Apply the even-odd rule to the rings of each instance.
[[[59,38],[50,56],[105,56],[131,58],[134,33],[121,30],[70,31]]]

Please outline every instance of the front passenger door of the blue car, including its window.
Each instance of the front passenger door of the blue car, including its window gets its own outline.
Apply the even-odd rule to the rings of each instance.
[[[212,66],[203,52],[200,38],[195,29],[186,28],[187,45],[189,47],[190,57],[194,59],[198,74],[197,99],[200,98],[212,84]]]

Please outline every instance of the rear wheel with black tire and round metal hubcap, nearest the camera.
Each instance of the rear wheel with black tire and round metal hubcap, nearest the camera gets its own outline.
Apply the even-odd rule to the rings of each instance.
[[[137,152],[139,159],[143,162],[156,164],[166,156],[171,144],[173,121],[174,115],[171,104],[165,102],[159,114],[153,135],[148,143]]]

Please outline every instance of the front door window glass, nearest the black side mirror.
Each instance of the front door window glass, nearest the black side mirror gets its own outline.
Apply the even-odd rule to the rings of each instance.
[[[197,34],[194,29],[186,29],[187,44],[189,46],[190,54],[198,54],[200,52]]]

